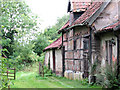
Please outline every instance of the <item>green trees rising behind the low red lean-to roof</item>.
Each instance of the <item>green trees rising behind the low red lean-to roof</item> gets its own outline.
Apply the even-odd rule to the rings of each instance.
[[[46,46],[61,36],[58,34],[58,30],[67,22],[67,20],[68,16],[66,15],[62,18],[58,18],[55,25],[45,29],[44,33],[38,34],[37,39],[32,41],[34,44],[33,51],[40,56]]]

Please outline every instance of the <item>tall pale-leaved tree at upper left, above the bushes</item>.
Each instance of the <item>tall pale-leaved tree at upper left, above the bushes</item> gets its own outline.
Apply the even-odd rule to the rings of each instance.
[[[2,47],[13,55],[15,40],[23,38],[31,30],[36,30],[37,17],[21,0],[0,0],[0,31],[2,32]],[[23,38],[24,39],[24,38]]]

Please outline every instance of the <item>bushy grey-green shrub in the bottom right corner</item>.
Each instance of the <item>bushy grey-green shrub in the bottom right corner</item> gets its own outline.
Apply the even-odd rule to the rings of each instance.
[[[117,68],[116,64],[114,65],[114,68],[111,67],[111,65],[106,65],[106,67],[102,68],[103,73],[97,75],[97,84],[101,84],[103,87],[107,88],[120,88],[120,75],[117,78]]]

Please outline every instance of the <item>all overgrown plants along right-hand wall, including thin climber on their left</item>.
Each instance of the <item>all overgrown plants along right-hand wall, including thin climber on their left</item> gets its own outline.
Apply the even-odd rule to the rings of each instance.
[[[101,62],[96,59],[91,65],[90,75],[96,76],[96,83],[90,83],[91,85],[97,84],[112,89],[120,88],[120,75],[117,77],[116,62],[113,62],[112,65],[106,62],[106,65],[102,67]]]

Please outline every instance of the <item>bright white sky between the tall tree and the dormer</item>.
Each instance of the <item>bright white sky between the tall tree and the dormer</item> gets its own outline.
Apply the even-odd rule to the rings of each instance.
[[[69,0],[25,0],[32,12],[40,17],[40,29],[56,23],[58,17],[67,14]]]

